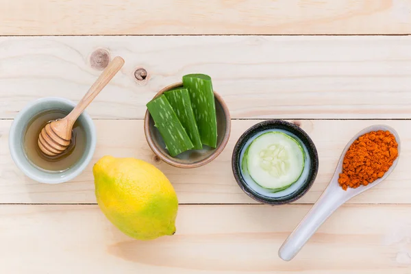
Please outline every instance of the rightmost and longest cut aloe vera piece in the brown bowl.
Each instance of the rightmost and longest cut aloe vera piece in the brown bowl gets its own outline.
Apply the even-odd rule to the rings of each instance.
[[[183,85],[190,92],[192,110],[199,127],[201,142],[215,148],[217,146],[216,104],[210,76],[184,75]]]

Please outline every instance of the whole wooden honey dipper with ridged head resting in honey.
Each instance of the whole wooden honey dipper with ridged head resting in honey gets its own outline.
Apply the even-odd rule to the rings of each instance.
[[[110,82],[112,77],[120,71],[123,64],[123,58],[116,56],[104,69],[97,81],[92,84],[82,100],[66,117],[47,123],[38,136],[38,147],[40,147],[43,153],[53,157],[63,153],[69,147],[75,121],[99,92]]]

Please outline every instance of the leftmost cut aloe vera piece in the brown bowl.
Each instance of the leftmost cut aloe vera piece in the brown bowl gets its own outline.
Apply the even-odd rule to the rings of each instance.
[[[147,108],[151,117],[153,117],[155,127],[158,128],[166,143],[166,149],[169,150],[171,157],[194,147],[169,100],[164,95],[149,101]]]

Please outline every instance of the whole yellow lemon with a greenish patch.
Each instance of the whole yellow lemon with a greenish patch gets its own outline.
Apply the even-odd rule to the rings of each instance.
[[[177,195],[155,166],[104,156],[92,171],[99,207],[123,233],[140,240],[175,233]]]

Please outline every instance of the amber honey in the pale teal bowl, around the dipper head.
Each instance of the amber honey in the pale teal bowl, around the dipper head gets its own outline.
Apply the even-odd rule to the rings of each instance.
[[[47,123],[64,118],[69,112],[64,110],[47,110],[40,112],[29,121],[23,146],[27,160],[42,171],[61,172],[70,169],[85,151],[86,132],[78,121],[73,125],[73,135],[69,147],[61,154],[49,156],[38,147],[38,134]]]

